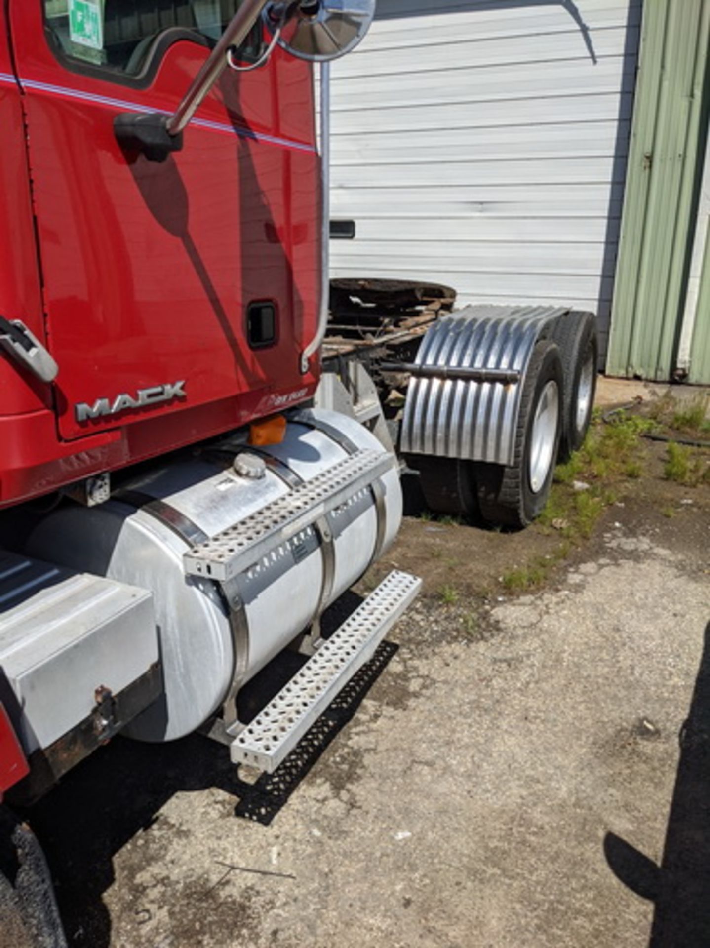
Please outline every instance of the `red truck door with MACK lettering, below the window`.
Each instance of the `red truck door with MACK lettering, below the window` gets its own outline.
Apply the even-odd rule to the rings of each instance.
[[[248,412],[269,392],[310,392],[314,377],[304,381],[298,364],[315,331],[319,289],[308,68],[278,51],[263,69],[226,74],[182,152],[164,163],[129,160],[114,137],[115,116],[173,111],[208,50],[179,41],[148,88],[131,88],[56,60],[38,42],[40,0],[17,0],[10,10],[48,346],[60,366],[61,436],[200,406],[207,412],[228,398],[243,400]],[[300,92],[282,105],[286,79]],[[304,189],[311,200],[295,200]],[[246,306],[264,300],[277,306],[278,337],[252,351]],[[108,399],[113,408],[123,393],[177,381],[184,398],[77,419],[78,404]]]

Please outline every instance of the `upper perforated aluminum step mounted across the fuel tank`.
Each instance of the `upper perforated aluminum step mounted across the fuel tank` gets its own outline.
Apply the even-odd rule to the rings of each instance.
[[[348,501],[356,491],[391,469],[394,458],[382,451],[362,449],[310,481],[294,487],[233,527],[192,547],[185,572],[225,582],[253,566],[275,545],[290,539]]]

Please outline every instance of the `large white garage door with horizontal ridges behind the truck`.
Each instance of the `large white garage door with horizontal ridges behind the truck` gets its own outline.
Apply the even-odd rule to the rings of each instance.
[[[379,0],[333,66],[334,276],[561,302],[606,336],[641,0]]]

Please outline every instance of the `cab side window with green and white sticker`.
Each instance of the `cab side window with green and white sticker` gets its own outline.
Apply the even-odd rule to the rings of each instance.
[[[241,0],[43,0],[50,45],[60,58],[116,78],[139,77],[177,39],[219,40]],[[246,60],[258,54],[252,30]],[[93,70],[92,70],[93,71]]]

